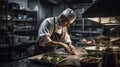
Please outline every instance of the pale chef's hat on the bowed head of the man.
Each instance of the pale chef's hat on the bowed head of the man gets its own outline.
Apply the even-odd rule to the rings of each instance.
[[[62,14],[70,21],[70,23],[73,23],[73,21],[76,19],[75,12],[70,8],[64,10]]]

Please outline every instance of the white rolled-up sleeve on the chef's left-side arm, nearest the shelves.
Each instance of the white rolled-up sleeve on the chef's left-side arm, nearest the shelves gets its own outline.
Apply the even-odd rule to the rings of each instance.
[[[48,20],[44,20],[41,23],[41,26],[40,26],[39,32],[38,32],[39,45],[45,46],[46,43],[51,41],[50,36],[51,36],[51,34],[50,34],[50,23],[49,23]]]

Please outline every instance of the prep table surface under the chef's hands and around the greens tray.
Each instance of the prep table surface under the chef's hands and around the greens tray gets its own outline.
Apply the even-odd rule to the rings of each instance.
[[[64,49],[58,49],[56,51],[49,52],[49,53],[54,55],[56,54],[56,55],[67,56],[67,59],[59,64],[60,67],[80,67],[79,59],[84,57],[87,54],[87,52],[83,50],[83,48],[80,46],[76,47],[76,50],[77,50],[77,55],[69,55],[64,51]],[[46,65],[36,64],[28,60],[29,58],[34,58],[39,55],[5,63],[0,65],[0,67],[50,67],[47,64]],[[101,63],[99,65],[101,65]]]

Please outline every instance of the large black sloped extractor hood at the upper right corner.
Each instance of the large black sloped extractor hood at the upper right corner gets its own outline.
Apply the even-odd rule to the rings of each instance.
[[[82,15],[83,17],[119,17],[119,0],[97,0]]]

